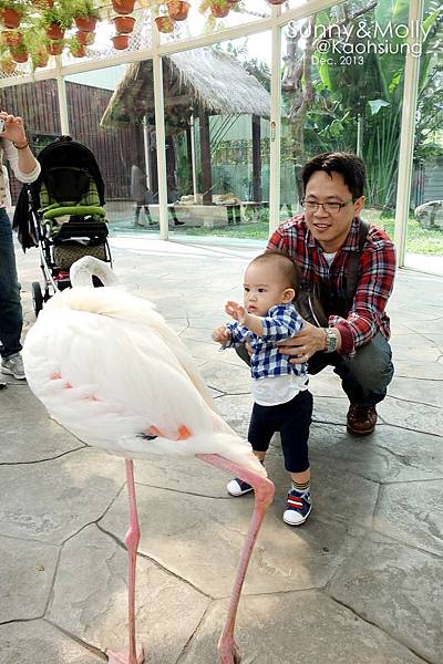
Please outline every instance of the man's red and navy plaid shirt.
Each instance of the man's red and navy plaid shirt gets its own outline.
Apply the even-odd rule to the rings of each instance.
[[[319,242],[308,229],[305,215],[297,215],[281,224],[272,234],[268,249],[279,249],[291,256],[301,268],[303,284],[321,280],[333,294],[344,297],[348,257],[351,251],[359,251],[359,224],[360,219],[356,217],[331,267],[328,266]],[[385,339],[390,338],[390,321],[384,308],[393,287],[395,250],[388,235],[375,226],[369,229],[360,256],[360,272],[348,317],[329,318],[329,326],[340,330],[342,355],[354,355],[356,349],[369,343],[378,332]]]

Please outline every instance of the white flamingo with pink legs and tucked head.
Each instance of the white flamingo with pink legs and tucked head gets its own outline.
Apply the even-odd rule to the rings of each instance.
[[[97,277],[103,288],[92,287]],[[28,384],[49,414],[84,443],[125,458],[128,647],[111,664],[142,664],[135,640],[135,567],[140,527],[133,459],[196,456],[255,489],[229,609],[218,642],[220,664],[239,664],[234,630],[249,559],[274,484],[241,439],[216,413],[189,352],[155,311],[125,292],[106,263],[84,257],[71,268],[72,289],[45,303],[23,349]]]

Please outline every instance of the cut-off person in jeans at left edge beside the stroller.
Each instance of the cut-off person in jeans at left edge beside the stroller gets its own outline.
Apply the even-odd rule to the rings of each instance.
[[[40,174],[40,164],[33,156],[21,117],[0,111],[4,122],[0,132],[0,162],[9,160],[16,177],[22,183],[33,183]],[[3,169],[0,170],[0,355],[1,372],[24,380],[20,351],[23,326],[20,287],[17,279],[16,255],[11,222],[6,211],[9,190]]]

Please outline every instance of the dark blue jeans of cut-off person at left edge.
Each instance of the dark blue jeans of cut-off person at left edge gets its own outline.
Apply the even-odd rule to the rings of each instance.
[[[0,208],[0,354],[2,357],[21,351],[22,323],[11,222],[4,208]]]

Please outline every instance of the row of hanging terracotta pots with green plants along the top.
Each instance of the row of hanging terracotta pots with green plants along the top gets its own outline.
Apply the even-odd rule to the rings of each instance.
[[[223,19],[239,6],[240,0],[196,0],[200,12],[209,12],[212,19]],[[268,4],[282,4],[286,0],[266,0]],[[97,3],[101,3],[99,9]],[[128,46],[134,30],[135,0],[111,0],[115,17],[112,19],[116,50]],[[145,2],[144,2],[145,6]],[[157,8],[155,18],[159,32],[171,33],[177,23],[188,18],[190,3],[185,0],[151,0]],[[84,58],[86,48],[94,43],[97,21],[103,17],[103,0],[0,0],[0,23],[4,30],[0,39],[0,69],[14,71],[14,63],[32,60],[34,68],[45,66],[49,55],[60,55],[68,48],[74,58]],[[109,20],[109,17],[106,17]],[[76,32],[65,38],[65,31],[75,27]]]

